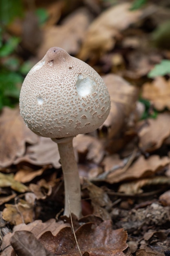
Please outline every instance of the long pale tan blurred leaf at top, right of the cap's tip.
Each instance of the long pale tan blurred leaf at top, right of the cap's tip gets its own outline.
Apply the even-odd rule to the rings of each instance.
[[[113,49],[120,31],[137,22],[142,11],[130,11],[130,3],[117,4],[104,11],[88,28],[86,39],[78,58],[85,60],[91,54]]]

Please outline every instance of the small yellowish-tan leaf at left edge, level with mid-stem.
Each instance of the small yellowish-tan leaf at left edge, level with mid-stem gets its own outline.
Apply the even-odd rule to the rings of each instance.
[[[0,173],[0,187],[3,188],[8,186],[10,186],[11,189],[18,191],[20,193],[24,193],[29,190],[27,186],[14,180],[13,173],[11,174]]]

